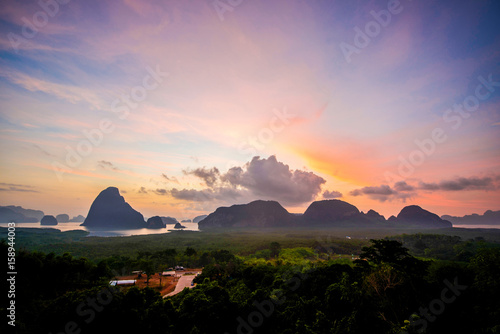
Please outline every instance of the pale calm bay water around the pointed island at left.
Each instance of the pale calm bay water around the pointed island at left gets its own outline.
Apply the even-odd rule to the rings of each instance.
[[[166,228],[161,229],[149,229],[149,228],[141,228],[134,230],[110,230],[110,229],[89,229],[85,226],[80,226],[81,223],[59,223],[55,226],[45,226],[40,225],[38,223],[16,223],[17,228],[21,227],[31,227],[31,228],[52,228],[60,230],[61,232],[73,231],[73,230],[82,230],[90,232],[89,237],[118,237],[118,236],[129,236],[129,235],[145,235],[145,234],[161,234],[161,233],[170,233],[169,230],[174,230],[174,225],[167,225]],[[198,223],[181,223],[183,226],[186,226],[184,231],[199,231]],[[7,227],[7,223],[0,223],[1,227]]]

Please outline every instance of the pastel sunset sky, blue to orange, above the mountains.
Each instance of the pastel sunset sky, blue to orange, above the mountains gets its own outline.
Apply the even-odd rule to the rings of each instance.
[[[500,210],[498,1],[6,0],[0,205]]]

